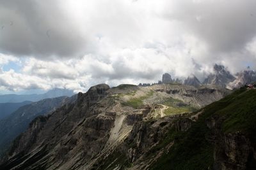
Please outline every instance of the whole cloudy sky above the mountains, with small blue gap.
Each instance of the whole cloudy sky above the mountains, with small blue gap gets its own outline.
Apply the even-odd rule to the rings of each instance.
[[[255,0],[0,0],[0,93],[204,79],[256,61]]]

